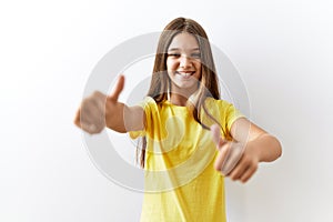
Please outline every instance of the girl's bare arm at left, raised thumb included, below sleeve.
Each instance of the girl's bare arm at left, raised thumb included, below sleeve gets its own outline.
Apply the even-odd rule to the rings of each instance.
[[[74,124],[91,134],[100,133],[105,127],[117,132],[142,130],[144,125],[143,109],[128,107],[118,101],[123,85],[124,77],[121,75],[109,97],[101,92],[94,92],[85,98],[75,114]]]

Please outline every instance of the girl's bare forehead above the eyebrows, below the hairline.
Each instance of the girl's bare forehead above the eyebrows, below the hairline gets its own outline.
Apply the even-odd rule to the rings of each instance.
[[[176,34],[172,39],[168,50],[176,50],[176,49],[195,50],[199,49],[199,43],[193,34],[182,32]]]

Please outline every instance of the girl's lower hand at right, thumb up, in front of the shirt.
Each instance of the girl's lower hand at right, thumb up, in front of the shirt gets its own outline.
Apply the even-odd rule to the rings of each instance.
[[[246,182],[258,169],[258,153],[250,147],[250,143],[241,144],[223,140],[220,127],[216,124],[211,127],[211,132],[213,141],[220,151],[214,168],[232,180]]]

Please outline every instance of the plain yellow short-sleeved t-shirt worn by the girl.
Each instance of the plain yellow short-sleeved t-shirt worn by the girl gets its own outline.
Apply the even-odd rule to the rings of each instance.
[[[243,117],[226,101],[208,98],[209,112],[226,135]],[[148,97],[141,105],[145,129],[144,198],[141,222],[224,222],[224,182],[214,168],[218,151],[209,130],[203,129],[186,107],[169,101],[157,104]],[[202,111],[202,122],[214,122]]]

